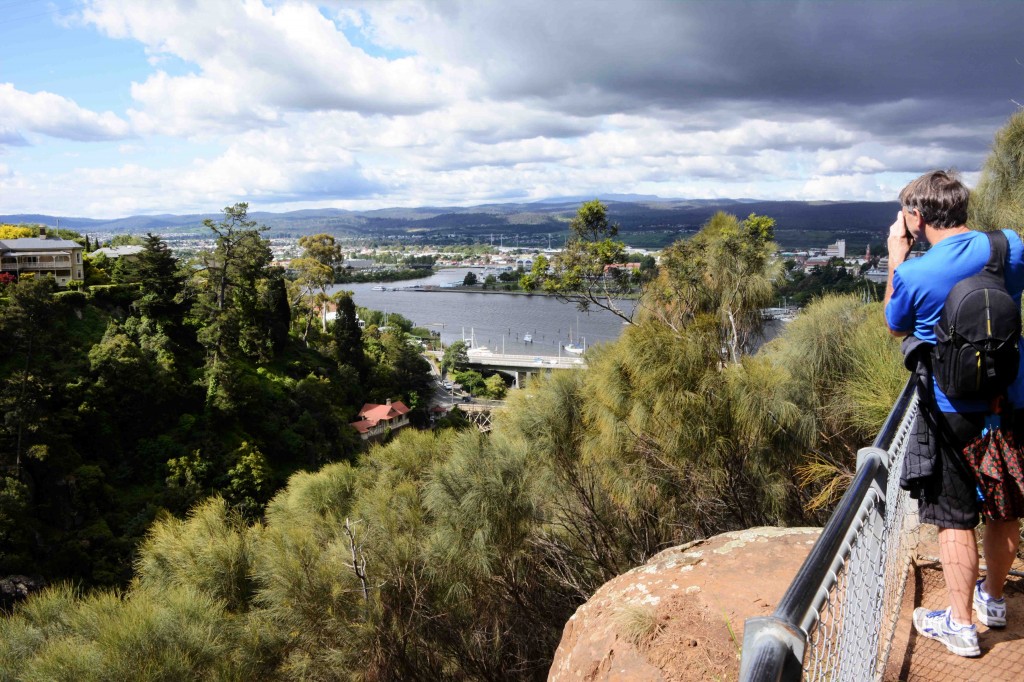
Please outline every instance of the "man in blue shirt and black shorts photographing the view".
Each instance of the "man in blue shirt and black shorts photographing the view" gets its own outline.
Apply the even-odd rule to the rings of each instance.
[[[929,344],[926,352],[937,341],[935,327],[953,287],[985,269],[994,244],[1001,243],[996,239],[990,245],[986,233],[967,227],[969,194],[951,172],[926,173],[900,193],[900,212],[889,228],[886,324],[894,336],[912,335]],[[1016,303],[1019,319],[1024,245],[1013,230],[1001,231],[1007,242],[1001,264],[1005,287]],[[927,243],[929,250],[908,259],[919,242]],[[981,435],[986,418],[991,419],[992,402],[951,397],[934,378],[928,381],[932,394],[922,395],[925,391],[919,390],[919,411],[931,411],[926,427],[931,432],[927,437],[911,437],[907,453],[911,466],[925,463],[918,473],[927,475],[904,485],[908,477],[904,469],[901,485],[919,499],[921,520],[939,528],[939,557],[949,606],[937,611],[918,608],[913,625],[919,634],[942,642],[953,653],[976,656],[980,648],[974,615],[990,628],[1006,626],[1002,590],[1016,556],[1020,526],[1016,516],[994,518],[986,513],[983,546],[987,573],[979,580],[974,528],[983,511],[983,495],[966,464],[964,449]],[[1009,403],[1001,415],[1002,428],[1020,434],[1017,441],[1024,442],[1024,410],[1016,409],[1024,408],[1024,372],[1017,372],[1002,397]]]

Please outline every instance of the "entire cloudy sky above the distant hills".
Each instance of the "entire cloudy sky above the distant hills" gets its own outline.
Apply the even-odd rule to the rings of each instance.
[[[1024,2],[0,0],[0,214],[892,200],[973,182]]]

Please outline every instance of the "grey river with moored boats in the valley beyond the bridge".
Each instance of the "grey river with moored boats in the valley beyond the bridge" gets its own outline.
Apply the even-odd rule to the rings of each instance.
[[[406,289],[415,285],[444,285],[462,282],[466,272],[480,276],[480,268],[449,268],[422,280],[381,284],[335,285],[352,292],[356,305],[397,312],[417,327],[440,332],[445,345],[472,337],[477,346],[510,354],[559,355],[561,345],[572,343],[589,348],[595,343],[617,339],[626,329],[622,318],[605,310],[581,312],[572,303],[550,296],[481,294],[453,290],[424,292]],[[374,291],[374,287],[388,291]],[[633,301],[622,301],[632,309]],[[534,337],[531,343],[523,335]],[[570,339],[571,334],[571,339]]]

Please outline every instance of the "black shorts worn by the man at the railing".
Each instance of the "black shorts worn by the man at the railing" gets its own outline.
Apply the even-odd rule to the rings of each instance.
[[[978,501],[978,484],[964,457],[964,446],[981,434],[985,426],[985,414],[944,412],[942,418],[949,427],[946,432],[951,433],[956,442],[950,445],[950,438],[929,438],[929,445],[932,447],[937,442],[941,443],[935,461],[935,481],[938,484],[925,491],[918,508],[923,523],[932,523],[940,528],[969,530],[981,520],[981,503]],[[1007,416],[1004,416],[1004,420],[1006,419]],[[1010,422],[1015,437],[1024,434],[1024,410],[1014,411],[1010,415]]]

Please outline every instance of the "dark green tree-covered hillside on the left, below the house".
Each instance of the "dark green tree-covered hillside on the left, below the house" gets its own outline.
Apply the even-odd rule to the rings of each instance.
[[[211,230],[190,263],[148,236],[85,291],[0,285],[0,574],[125,585],[163,510],[216,491],[258,518],[294,471],[354,458],[364,402],[423,402],[402,328],[364,333],[341,294],[339,322],[306,329],[292,311],[324,290],[290,305],[245,205]]]

